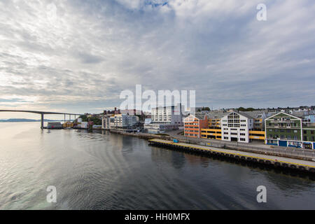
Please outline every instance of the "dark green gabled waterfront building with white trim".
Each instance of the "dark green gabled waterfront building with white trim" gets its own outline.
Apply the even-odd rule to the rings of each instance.
[[[315,149],[315,126],[303,118],[277,113],[265,120],[267,145]]]

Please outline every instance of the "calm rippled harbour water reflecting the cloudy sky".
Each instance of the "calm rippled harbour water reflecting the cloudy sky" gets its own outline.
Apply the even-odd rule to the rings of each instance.
[[[39,126],[0,123],[0,209],[315,209],[311,176]],[[261,185],[265,204],[256,201]],[[48,186],[57,188],[55,204],[46,202]]]

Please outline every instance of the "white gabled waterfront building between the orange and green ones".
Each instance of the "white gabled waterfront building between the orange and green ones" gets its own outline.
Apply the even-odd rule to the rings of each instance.
[[[231,112],[221,118],[223,141],[249,142],[249,130],[253,130],[253,118],[245,113]]]

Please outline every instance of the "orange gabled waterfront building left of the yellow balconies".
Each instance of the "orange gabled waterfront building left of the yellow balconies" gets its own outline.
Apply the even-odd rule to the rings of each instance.
[[[186,137],[200,138],[201,130],[208,127],[206,115],[190,115],[184,119],[184,134]]]

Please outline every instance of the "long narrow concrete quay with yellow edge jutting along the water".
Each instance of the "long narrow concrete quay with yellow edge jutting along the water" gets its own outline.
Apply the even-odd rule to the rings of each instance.
[[[222,157],[234,158],[235,160],[244,160],[246,162],[257,162],[264,165],[283,167],[288,169],[297,169],[302,172],[315,173],[315,162],[307,160],[297,160],[293,158],[284,158],[273,155],[263,155],[258,153],[248,153],[224,148],[214,148],[210,146],[199,146],[195,144],[174,143],[162,139],[151,139],[148,141],[151,146],[160,146],[172,148],[179,151],[200,153],[206,155],[217,155]]]

